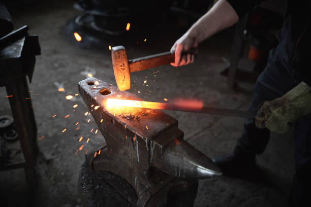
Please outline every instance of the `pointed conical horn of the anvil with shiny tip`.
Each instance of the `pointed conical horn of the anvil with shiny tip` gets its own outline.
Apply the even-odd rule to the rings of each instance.
[[[173,140],[169,137],[174,137]],[[206,155],[182,140],[183,132],[172,127],[155,137],[151,165],[175,177],[205,179],[222,175],[221,169]],[[164,147],[159,147],[164,146]]]

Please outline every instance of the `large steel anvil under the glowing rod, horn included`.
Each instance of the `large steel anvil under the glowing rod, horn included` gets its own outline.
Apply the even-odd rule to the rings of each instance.
[[[108,98],[141,99],[94,77],[78,85],[106,141],[86,155],[87,166],[110,171],[130,183],[138,197],[135,206],[160,206],[152,198],[164,189],[167,193],[176,177],[205,179],[222,174],[207,156],[183,140],[173,117],[159,110],[107,109]],[[155,176],[154,170],[160,174]]]

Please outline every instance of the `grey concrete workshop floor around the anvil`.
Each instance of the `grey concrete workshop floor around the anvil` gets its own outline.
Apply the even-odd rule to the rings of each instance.
[[[11,11],[15,28],[27,24],[30,34],[38,34],[42,52],[37,56],[33,82],[29,85],[33,94],[39,93],[32,95],[32,99],[38,138],[44,136],[38,141],[40,154],[36,170],[39,184],[36,191],[31,192],[23,169],[1,171],[0,198],[8,206],[80,206],[77,180],[84,162],[83,151],[91,150],[104,139],[100,134],[90,133],[96,123],[91,116],[84,116],[87,109],[82,98],[75,96],[66,100],[65,96],[78,93],[77,83],[84,80],[87,73],[115,85],[110,51],[108,48],[100,52],[85,50],[67,41],[63,27],[79,13],[73,9],[72,2],[50,2],[49,5],[25,7],[22,13],[20,11]],[[146,37],[145,45],[128,51],[128,55],[139,57],[167,51],[180,34],[180,31],[170,31],[163,40]],[[150,101],[195,98],[208,106],[247,110],[253,84],[240,82],[237,90],[230,91],[226,78],[220,75],[227,65],[231,42],[232,32],[224,31],[200,46],[199,56],[191,65],[180,68],[167,65],[135,73],[132,75],[134,87],[130,91],[141,91],[139,96]],[[241,61],[241,67],[246,70],[252,65],[245,57]],[[154,77],[152,73],[158,70]],[[144,80],[148,80],[148,86],[143,85]],[[65,91],[58,92],[59,87],[64,87]],[[0,114],[8,114],[10,110],[5,96],[5,89],[1,88]],[[79,107],[73,112],[75,104]],[[243,128],[243,118],[166,113],[179,121],[184,139],[210,158],[231,152]],[[53,118],[55,114],[57,116]],[[65,118],[68,114],[70,117]],[[79,130],[75,130],[77,122]],[[67,131],[62,133],[64,128]],[[78,142],[81,135],[90,139],[88,144],[86,139]],[[81,144],[85,148],[75,154]],[[267,149],[257,160],[262,169],[258,180],[225,176],[200,180],[195,206],[286,205],[294,173],[292,133],[272,134]]]

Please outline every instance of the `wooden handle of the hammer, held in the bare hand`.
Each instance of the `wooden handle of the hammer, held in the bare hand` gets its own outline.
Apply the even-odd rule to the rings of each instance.
[[[182,54],[197,54],[197,49],[192,48],[189,51],[184,51]],[[158,67],[161,65],[170,64],[175,61],[175,53],[163,52],[159,54],[149,55],[145,57],[139,57],[129,60],[130,73],[136,71],[143,71],[148,68]]]

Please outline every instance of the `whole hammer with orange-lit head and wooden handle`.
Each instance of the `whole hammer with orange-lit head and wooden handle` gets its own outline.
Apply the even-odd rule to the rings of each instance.
[[[188,53],[196,54],[197,50],[192,48],[183,54]],[[116,46],[111,49],[111,58],[115,81],[119,90],[122,91],[131,88],[130,73],[174,62],[175,53],[163,52],[128,60],[125,48],[123,46]]]

